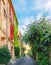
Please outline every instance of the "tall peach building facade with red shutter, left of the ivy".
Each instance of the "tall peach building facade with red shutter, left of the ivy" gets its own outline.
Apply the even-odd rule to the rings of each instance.
[[[8,46],[14,59],[15,11],[11,0],[0,0],[0,47]]]

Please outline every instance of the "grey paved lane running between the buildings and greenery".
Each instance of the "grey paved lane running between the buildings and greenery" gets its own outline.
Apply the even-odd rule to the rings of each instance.
[[[20,60],[16,60],[13,64],[9,65],[37,65],[37,63],[29,56],[25,56]]]

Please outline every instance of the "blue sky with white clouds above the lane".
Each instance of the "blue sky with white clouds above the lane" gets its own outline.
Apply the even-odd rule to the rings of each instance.
[[[19,23],[19,30],[24,34],[26,25],[43,15],[51,18],[51,0],[12,0]]]

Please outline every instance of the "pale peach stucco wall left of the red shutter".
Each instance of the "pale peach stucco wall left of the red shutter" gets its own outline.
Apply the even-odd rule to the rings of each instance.
[[[9,9],[8,0],[4,0],[4,3],[5,4],[3,4],[1,0],[0,27],[5,33],[3,33],[2,30],[0,29],[0,47],[7,44],[8,49],[10,50],[10,53],[12,55],[12,58],[14,59],[14,45],[8,39],[6,39],[6,30],[7,30],[7,36],[10,37],[10,9]],[[5,15],[7,14],[6,15],[7,17],[4,16],[4,9],[5,9]],[[7,22],[7,26],[6,26],[6,22]],[[5,39],[1,40],[2,37],[5,37]]]

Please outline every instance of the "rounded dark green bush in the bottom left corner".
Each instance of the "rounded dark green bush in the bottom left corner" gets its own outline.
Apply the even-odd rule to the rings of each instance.
[[[0,64],[7,64],[11,59],[10,52],[7,47],[0,48]]]

